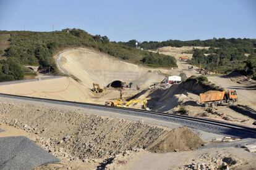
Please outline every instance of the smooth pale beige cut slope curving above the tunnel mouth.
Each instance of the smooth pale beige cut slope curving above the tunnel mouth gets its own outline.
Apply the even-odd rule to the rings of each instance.
[[[116,80],[148,87],[164,78],[158,73],[148,72],[148,68],[89,49],[71,49],[62,52],[58,57],[60,70],[80,79],[83,86],[88,88],[92,88],[93,83],[106,87]]]

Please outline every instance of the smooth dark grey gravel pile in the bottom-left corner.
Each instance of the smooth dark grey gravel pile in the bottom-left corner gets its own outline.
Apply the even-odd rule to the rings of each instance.
[[[0,169],[33,169],[58,161],[27,137],[0,138]]]

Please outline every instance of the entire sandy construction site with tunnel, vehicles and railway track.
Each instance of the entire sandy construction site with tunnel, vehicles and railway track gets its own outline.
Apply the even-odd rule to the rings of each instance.
[[[202,72],[186,61],[191,49],[152,51],[174,56],[177,68],[61,51],[60,76],[0,83],[0,141],[23,136],[41,147],[42,162],[25,169],[255,169],[256,82]],[[8,149],[0,169],[18,167],[22,152]]]

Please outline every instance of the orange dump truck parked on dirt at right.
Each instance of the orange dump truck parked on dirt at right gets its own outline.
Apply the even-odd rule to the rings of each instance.
[[[205,105],[205,107],[216,107],[220,103],[228,103],[233,105],[237,102],[236,91],[208,91],[200,94],[200,102]]]

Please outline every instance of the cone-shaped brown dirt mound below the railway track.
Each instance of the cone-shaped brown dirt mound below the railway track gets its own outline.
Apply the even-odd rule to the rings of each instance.
[[[156,140],[147,149],[151,152],[166,153],[194,150],[202,144],[204,144],[203,140],[187,129],[187,127],[178,127],[169,131],[161,139]]]

